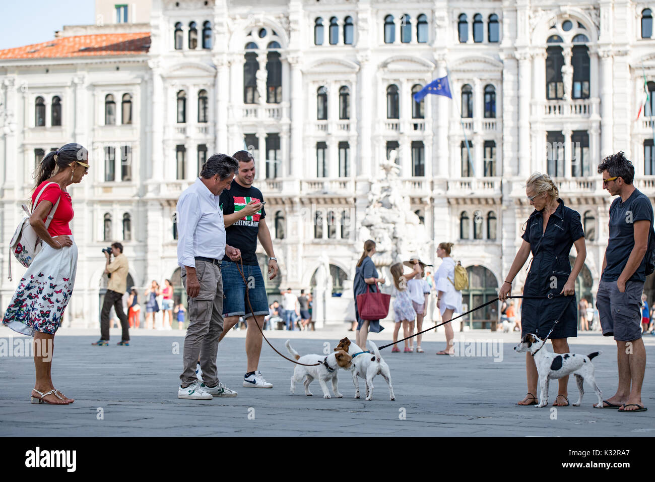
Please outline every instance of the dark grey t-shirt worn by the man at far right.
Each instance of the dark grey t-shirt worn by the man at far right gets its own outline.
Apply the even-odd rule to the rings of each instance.
[[[648,220],[650,228],[653,222],[653,209],[650,200],[641,191],[635,191],[621,202],[617,197],[610,206],[609,231],[607,241],[607,266],[603,271],[603,281],[616,281],[627,264],[627,258],[635,247],[635,222]],[[628,281],[646,281],[646,258]]]

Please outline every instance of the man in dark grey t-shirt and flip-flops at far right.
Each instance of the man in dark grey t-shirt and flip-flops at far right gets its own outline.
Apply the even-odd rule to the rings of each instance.
[[[642,412],[641,385],[646,349],[641,338],[641,294],[646,280],[646,250],[652,230],[650,199],[633,186],[635,168],[619,152],[598,166],[603,188],[618,195],[610,206],[609,240],[596,306],[604,336],[614,335],[618,350],[618,388],[603,408]]]

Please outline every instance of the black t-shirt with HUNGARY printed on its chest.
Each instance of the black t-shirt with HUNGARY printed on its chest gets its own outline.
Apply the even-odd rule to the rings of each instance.
[[[244,188],[236,180],[232,181],[229,190],[223,190],[221,193],[221,208],[223,217],[227,214],[244,209],[252,201],[264,201],[261,191],[257,188]],[[259,212],[252,216],[244,216],[231,226],[225,228],[226,243],[231,247],[241,251],[243,264],[256,266],[257,255],[257,233],[259,233],[259,221],[266,217],[266,211],[262,206]],[[225,255],[223,260],[229,261],[230,258]]]

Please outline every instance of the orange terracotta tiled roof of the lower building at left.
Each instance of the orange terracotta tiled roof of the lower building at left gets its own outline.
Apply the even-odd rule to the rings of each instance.
[[[0,50],[0,60],[138,55],[150,49],[150,33],[103,33],[62,37],[15,49]]]

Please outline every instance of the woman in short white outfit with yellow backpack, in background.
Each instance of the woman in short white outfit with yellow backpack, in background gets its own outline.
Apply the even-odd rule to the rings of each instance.
[[[455,261],[450,257],[453,243],[441,243],[437,248],[437,256],[441,258],[441,266],[434,274],[437,285],[437,308],[441,313],[443,322],[450,321],[453,313],[462,312],[462,292],[455,290]],[[450,323],[443,325],[446,332],[446,348],[437,352],[437,355],[451,355],[454,353],[453,327]]]

